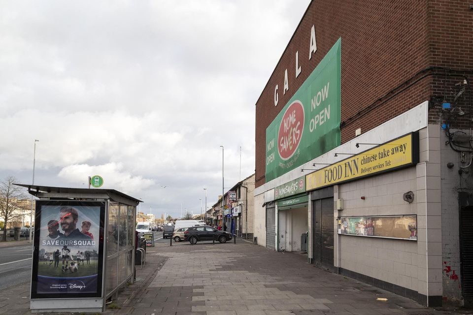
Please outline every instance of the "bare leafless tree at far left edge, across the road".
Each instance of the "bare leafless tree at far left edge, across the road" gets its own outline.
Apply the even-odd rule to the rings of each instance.
[[[16,178],[9,176],[0,182],[0,217],[4,221],[2,240],[6,241],[6,223],[20,219],[21,210],[28,210],[28,202],[23,188],[13,185]],[[26,209],[25,209],[26,208]]]

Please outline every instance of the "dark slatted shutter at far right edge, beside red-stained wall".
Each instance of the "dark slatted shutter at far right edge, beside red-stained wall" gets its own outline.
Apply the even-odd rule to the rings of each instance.
[[[460,210],[460,252],[465,307],[473,307],[473,207]]]

